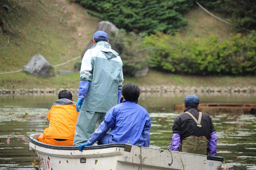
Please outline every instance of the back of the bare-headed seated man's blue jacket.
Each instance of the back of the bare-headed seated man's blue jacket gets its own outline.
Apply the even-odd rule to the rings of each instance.
[[[142,132],[151,127],[151,119],[146,109],[132,101],[123,101],[112,107],[105,116],[105,122],[111,128],[111,143],[129,141],[133,145],[144,145]]]

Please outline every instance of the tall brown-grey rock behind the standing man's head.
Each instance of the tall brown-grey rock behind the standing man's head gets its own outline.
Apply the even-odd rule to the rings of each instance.
[[[99,25],[97,26],[96,30],[94,31],[94,33],[96,31],[104,31],[108,34],[108,41],[109,44],[111,45],[111,48],[113,50],[115,50],[119,55],[122,54],[123,52],[123,46],[120,44],[116,44],[113,40],[117,40],[117,41],[123,41],[118,35],[118,28],[112,24],[111,22],[108,21],[100,21]],[[93,35],[92,35],[93,36]],[[81,54],[81,59],[83,59],[84,57],[84,53],[92,48],[93,44],[92,44],[92,37],[89,39],[88,45],[84,48],[84,51]]]

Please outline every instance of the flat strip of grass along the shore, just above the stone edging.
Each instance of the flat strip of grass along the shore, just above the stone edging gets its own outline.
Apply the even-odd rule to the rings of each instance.
[[[124,84],[135,83],[137,85],[174,85],[181,87],[255,87],[256,78],[254,77],[231,77],[231,76],[181,76],[166,74],[163,72],[150,70],[145,77],[127,77],[124,75]],[[12,89],[31,89],[31,88],[78,88],[79,73],[75,71],[72,74],[59,75],[56,72],[55,77],[38,78],[27,75],[23,72],[1,75],[0,88]]]

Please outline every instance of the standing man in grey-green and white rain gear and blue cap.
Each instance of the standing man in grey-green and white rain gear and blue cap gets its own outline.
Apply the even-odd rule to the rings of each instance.
[[[80,70],[74,146],[87,142],[96,123],[100,124],[107,111],[121,99],[124,79],[120,56],[111,49],[104,31],[95,32],[92,42],[94,45],[85,52]]]

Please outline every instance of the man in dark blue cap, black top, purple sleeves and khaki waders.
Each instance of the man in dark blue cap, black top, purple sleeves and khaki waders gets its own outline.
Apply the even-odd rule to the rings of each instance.
[[[188,95],[184,100],[184,113],[174,119],[172,126],[172,151],[214,156],[217,137],[212,118],[198,111],[199,99]]]

